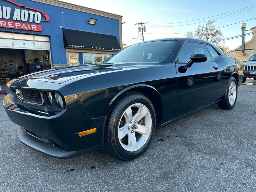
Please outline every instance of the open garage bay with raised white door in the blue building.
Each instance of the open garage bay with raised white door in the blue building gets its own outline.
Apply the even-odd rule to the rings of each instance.
[[[0,32],[0,80],[10,80],[9,60],[16,66],[16,75],[34,72],[38,59],[51,68],[49,37]]]

